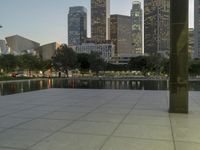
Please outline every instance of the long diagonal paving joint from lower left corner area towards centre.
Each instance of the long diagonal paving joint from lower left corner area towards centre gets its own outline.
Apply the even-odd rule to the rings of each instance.
[[[98,93],[99,94],[99,93]],[[103,94],[103,92],[102,92],[102,94]],[[94,96],[92,96],[92,97],[96,97],[97,95],[94,95]],[[114,96],[114,97],[116,97],[116,96]],[[114,98],[113,97],[113,98]],[[112,100],[112,99],[111,99]],[[110,100],[109,100],[110,101]],[[102,105],[99,105],[99,106],[97,106],[93,111],[91,111],[91,112],[88,112],[88,113],[86,113],[86,114],[84,114],[84,115],[82,115],[82,116],[80,116],[79,118],[77,118],[77,119],[75,119],[75,120],[73,120],[72,122],[70,122],[69,124],[67,124],[66,126],[63,126],[62,128],[60,128],[60,129],[58,129],[58,130],[56,130],[56,131],[54,131],[54,132],[52,132],[51,134],[49,134],[48,136],[46,136],[46,137],[44,137],[44,138],[42,138],[40,141],[38,141],[38,142],[36,142],[36,143],[34,143],[33,145],[31,145],[31,146],[29,146],[29,147],[27,147],[27,149],[31,149],[32,147],[34,147],[35,145],[37,145],[37,144],[39,144],[39,143],[41,143],[42,141],[44,141],[45,139],[47,139],[47,138],[49,138],[49,137],[51,137],[51,136],[53,136],[53,135],[55,135],[56,133],[59,133],[59,131],[62,131],[64,128],[66,128],[66,127],[69,127],[70,125],[72,125],[72,124],[74,124],[76,121],[79,121],[81,118],[83,118],[83,117],[85,117],[85,116],[87,116],[87,115],[89,115],[90,113],[92,113],[92,112],[94,112],[95,110],[97,110],[98,108],[100,108],[101,106],[103,106],[103,105],[105,105],[105,104],[107,104],[109,101],[107,101],[107,102],[105,102],[104,104],[102,104]]]

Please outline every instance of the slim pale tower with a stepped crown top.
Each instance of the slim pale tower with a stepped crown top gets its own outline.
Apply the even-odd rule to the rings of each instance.
[[[143,27],[141,2],[134,1],[131,10],[132,19],[132,40],[133,51],[135,54],[143,53]]]

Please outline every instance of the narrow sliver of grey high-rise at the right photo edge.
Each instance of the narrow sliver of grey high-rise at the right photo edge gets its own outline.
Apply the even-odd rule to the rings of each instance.
[[[194,1],[194,58],[200,58],[200,0]]]

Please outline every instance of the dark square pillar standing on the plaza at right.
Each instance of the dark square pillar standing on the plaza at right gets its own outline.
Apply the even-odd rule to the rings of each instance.
[[[170,0],[170,113],[188,113],[188,0]]]

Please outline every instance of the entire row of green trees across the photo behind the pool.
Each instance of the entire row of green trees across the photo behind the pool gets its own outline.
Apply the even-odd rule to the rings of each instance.
[[[106,63],[98,53],[76,54],[67,45],[62,45],[51,60],[43,61],[30,54],[14,56],[1,55],[0,69],[5,73],[13,71],[42,71],[54,68],[56,71],[65,72],[78,69],[81,73],[91,70],[98,74],[99,71],[140,71],[143,75],[151,72],[155,75],[168,74],[169,60],[160,56],[139,56],[132,58],[127,65],[114,65]],[[200,74],[200,60],[192,60],[189,64],[191,75]]]

